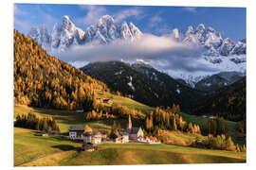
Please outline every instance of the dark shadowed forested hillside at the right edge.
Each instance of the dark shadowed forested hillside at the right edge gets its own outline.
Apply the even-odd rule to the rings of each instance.
[[[247,108],[246,77],[226,86],[192,107],[195,115],[219,115],[232,121],[246,120]]]

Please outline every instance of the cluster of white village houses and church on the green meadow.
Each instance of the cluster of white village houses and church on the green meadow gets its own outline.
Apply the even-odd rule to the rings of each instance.
[[[98,131],[89,126],[69,127],[69,139],[82,141],[82,149],[87,151],[94,150],[95,144],[116,143],[125,144],[130,141],[146,144],[159,144],[155,137],[144,135],[141,127],[132,127],[131,117],[125,132],[115,132],[108,135],[107,131]]]

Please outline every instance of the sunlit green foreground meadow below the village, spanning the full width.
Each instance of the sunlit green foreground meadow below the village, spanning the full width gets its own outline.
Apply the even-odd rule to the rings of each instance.
[[[246,153],[173,144],[100,144],[94,152],[80,152],[80,146],[62,135],[43,137],[14,127],[14,165],[18,166],[246,162]]]

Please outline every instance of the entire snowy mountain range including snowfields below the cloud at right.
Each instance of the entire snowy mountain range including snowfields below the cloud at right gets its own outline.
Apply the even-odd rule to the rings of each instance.
[[[195,29],[188,27],[185,33],[177,28],[170,30],[170,39],[186,45],[201,47],[201,58],[204,64],[219,70],[217,73],[199,73],[193,75],[190,72],[167,72],[170,76],[185,80],[192,88],[200,80],[221,72],[239,72],[246,76],[246,39],[232,42],[229,38],[222,38],[220,32],[212,27],[200,24]],[[62,24],[55,24],[49,33],[46,26],[32,27],[28,36],[42,45],[50,54],[64,52],[76,45],[107,45],[116,40],[134,42],[143,37],[143,33],[133,23],[122,22],[118,24],[109,15],[102,16],[96,25],[88,26],[85,31],[75,26],[66,15]],[[86,60],[86,57],[84,57]]]

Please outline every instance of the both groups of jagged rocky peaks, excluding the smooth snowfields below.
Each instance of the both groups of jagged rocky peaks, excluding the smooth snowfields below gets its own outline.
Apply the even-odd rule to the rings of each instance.
[[[133,23],[128,25],[122,22],[118,25],[109,15],[103,15],[96,25],[88,26],[83,31],[64,15],[62,25],[55,24],[50,34],[46,26],[39,26],[32,27],[28,36],[39,42],[46,50],[64,51],[72,45],[89,42],[107,44],[117,39],[134,41],[141,38],[143,33]],[[174,28],[172,37],[178,42],[203,45],[206,48],[204,53],[206,56],[243,55],[246,54],[247,49],[246,39],[239,42],[232,42],[229,38],[223,39],[220,32],[212,27],[205,28],[203,24],[197,26],[195,30],[189,26],[185,34]]]

